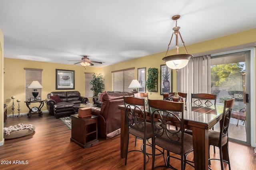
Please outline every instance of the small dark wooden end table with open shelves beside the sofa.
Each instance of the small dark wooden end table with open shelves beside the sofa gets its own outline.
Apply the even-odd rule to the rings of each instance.
[[[98,116],[81,118],[78,114],[71,115],[72,135],[70,141],[82,148],[98,143]]]

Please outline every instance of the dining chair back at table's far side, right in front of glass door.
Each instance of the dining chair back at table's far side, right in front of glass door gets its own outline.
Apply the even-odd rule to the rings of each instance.
[[[214,100],[214,103],[212,103]],[[198,93],[191,94],[191,103],[197,106],[212,106],[216,105],[217,95],[216,94],[206,94],[206,93]]]

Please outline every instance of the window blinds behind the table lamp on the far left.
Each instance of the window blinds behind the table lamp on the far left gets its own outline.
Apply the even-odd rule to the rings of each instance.
[[[25,100],[34,98],[32,92],[34,89],[28,88],[32,81],[38,81],[42,85],[42,69],[36,68],[24,68],[25,70]],[[43,86],[43,85],[42,85]],[[44,86],[43,86],[44,87]],[[36,89],[38,91],[38,97],[42,98],[42,89]]]

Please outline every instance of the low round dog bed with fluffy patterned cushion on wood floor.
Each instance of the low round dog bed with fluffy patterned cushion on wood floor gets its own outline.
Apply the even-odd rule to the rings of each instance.
[[[4,127],[4,139],[14,139],[18,137],[24,137],[30,135],[35,131],[36,127],[31,124],[24,125],[19,123],[18,125],[12,125]]]

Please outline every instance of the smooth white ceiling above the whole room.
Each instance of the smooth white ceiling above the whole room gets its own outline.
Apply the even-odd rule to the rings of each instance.
[[[256,0],[0,0],[0,28],[4,57],[73,64],[88,55],[107,66],[166,51],[176,14],[188,46],[255,28],[255,8]]]

